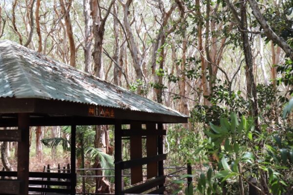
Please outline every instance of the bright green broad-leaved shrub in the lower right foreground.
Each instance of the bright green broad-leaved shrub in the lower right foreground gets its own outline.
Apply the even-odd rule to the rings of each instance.
[[[261,179],[264,172],[269,176],[267,183],[272,194],[285,192],[288,184],[282,171],[293,165],[292,133],[278,137],[275,132],[268,133],[266,126],[255,132],[252,118],[239,120],[235,113],[230,114],[230,120],[221,117],[219,125],[210,122],[209,126],[201,150],[213,166],[198,177],[196,190],[200,194],[220,194],[221,187],[228,183],[239,185],[240,177],[244,181],[250,176]]]

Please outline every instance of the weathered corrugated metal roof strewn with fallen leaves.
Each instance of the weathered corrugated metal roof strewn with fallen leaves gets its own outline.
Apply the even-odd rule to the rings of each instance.
[[[56,99],[187,117],[10,40],[0,41],[0,97]]]

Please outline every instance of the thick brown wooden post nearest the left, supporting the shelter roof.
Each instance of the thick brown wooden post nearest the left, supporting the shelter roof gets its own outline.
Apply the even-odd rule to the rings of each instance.
[[[21,141],[18,142],[17,179],[21,180],[20,195],[28,195],[29,114],[18,114],[18,129],[21,131]]]

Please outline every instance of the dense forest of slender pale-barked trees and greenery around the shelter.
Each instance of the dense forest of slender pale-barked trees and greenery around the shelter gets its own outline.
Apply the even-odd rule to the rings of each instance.
[[[292,0],[1,0],[0,39],[190,116],[165,125],[166,166],[189,161],[194,173],[173,191],[293,193]],[[113,167],[112,129],[78,128],[79,167]],[[30,170],[69,161],[70,128],[30,135]],[[6,170],[15,148],[1,143]],[[82,190],[99,182],[111,183]]]

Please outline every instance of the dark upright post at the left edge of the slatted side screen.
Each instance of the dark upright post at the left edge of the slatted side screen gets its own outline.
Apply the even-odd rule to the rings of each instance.
[[[115,121],[115,195],[121,195],[123,191],[123,177],[122,177],[122,127],[120,121]]]

